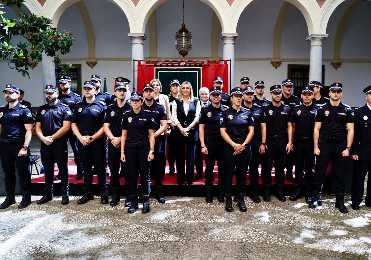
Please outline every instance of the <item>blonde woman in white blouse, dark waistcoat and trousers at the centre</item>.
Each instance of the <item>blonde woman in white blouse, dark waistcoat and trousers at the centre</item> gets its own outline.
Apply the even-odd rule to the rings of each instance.
[[[192,85],[184,81],[179,97],[173,102],[171,121],[174,127],[175,154],[177,158],[178,185],[190,185],[194,181],[194,156],[198,140],[197,123],[201,111],[198,98],[193,96]],[[187,154],[185,154],[187,150]],[[184,169],[187,158],[186,169]]]

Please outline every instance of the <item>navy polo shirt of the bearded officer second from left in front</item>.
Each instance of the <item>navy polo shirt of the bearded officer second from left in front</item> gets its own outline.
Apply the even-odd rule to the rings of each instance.
[[[63,126],[63,121],[71,120],[70,108],[60,101],[55,105],[45,104],[37,109],[36,122],[41,123],[41,131],[44,136],[52,136]]]

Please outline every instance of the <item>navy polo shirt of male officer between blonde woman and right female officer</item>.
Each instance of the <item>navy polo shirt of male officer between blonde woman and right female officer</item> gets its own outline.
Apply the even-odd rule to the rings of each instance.
[[[198,124],[205,125],[205,134],[208,136],[220,136],[220,117],[224,107],[220,104],[219,108],[212,104],[201,108]]]

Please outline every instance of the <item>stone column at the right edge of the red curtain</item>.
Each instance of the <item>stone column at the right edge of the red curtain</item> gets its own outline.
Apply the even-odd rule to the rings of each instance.
[[[237,38],[238,33],[221,33],[220,39],[223,40],[223,59],[231,59],[231,73],[229,75],[231,79],[231,85],[229,87],[236,87],[234,85],[234,40]],[[217,75],[215,75],[217,77]],[[223,92],[229,93],[229,90],[223,89]]]

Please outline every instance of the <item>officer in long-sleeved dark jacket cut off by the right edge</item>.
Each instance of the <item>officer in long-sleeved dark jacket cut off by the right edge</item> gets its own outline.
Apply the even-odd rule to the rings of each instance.
[[[354,110],[354,140],[350,150],[354,171],[352,179],[352,209],[359,210],[365,176],[371,173],[371,86],[364,88],[367,104]],[[371,207],[371,178],[367,180],[365,205]]]

